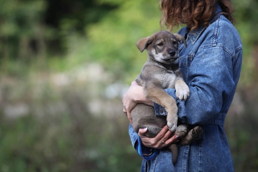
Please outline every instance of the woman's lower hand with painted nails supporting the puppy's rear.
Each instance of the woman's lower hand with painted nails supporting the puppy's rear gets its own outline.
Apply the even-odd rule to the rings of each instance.
[[[161,149],[169,146],[172,143],[177,143],[179,140],[179,136],[175,135],[171,137],[173,134],[168,130],[167,125],[165,125],[162,130],[157,134],[155,138],[148,138],[144,136],[144,134],[148,131],[148,128],[140,128],[138,135],[142,140],[142,144],[148,148],[156,148]]]

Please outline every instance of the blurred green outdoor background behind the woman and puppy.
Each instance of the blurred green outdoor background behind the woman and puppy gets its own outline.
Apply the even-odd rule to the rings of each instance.
[[[0,171],[140,171],[121,98],[158,0],[0,2]],[[258,2],[232,2],[244,54],[225,130],[235,170],[255,171]]]

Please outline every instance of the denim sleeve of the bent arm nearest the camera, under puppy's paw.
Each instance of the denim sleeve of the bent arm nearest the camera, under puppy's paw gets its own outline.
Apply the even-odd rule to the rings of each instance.
[[[232,57],[223,47],[198,51],[185,78],[190,88],[190,97],[186,101],[177,100],[175,89],[165,89],[177,100],[182,122],[208,124],[219,113],[227,113],[229,107],[223,107],[223,104],[232,101],[238,78],[234,79]],[[156,115],[166,114],[160,105],[154,103],[154,107]]]

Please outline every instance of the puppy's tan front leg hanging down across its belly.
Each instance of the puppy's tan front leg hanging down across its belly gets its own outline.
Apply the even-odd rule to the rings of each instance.
[[[167,126],[171,132],[175,132],[178,123],[178,107],[176,100],[169,96],[163,89],[155,85],[148,85],[144,87],[146,98],[163,106],[167,112]]]

